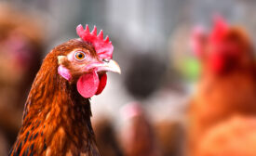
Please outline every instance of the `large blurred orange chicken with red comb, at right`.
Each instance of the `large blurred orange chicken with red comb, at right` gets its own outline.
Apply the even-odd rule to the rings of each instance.
[[[188,112],[191,155],[214,124],[236,113],[256,114],[253,49],[246,32],[217,18],[212,32],[196,31],[194,37],[202,74]]]

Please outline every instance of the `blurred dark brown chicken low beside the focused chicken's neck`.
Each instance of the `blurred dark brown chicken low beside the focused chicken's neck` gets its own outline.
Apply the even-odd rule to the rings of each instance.
[[[107,117],[101,116],[92,121],[92,124],[101,156],[123,156],[123,151],[117,141],[114,123]]]

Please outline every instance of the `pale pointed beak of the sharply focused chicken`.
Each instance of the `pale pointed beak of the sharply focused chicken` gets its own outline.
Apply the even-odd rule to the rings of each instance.
[[[121,74],[121,69],[113,59],[103,59],[102,62],[92,63],[88,69],[96,69],[96,71],[113,71]]]

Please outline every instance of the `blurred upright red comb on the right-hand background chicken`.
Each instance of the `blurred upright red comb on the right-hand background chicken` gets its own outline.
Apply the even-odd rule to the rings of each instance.
[[[228,30],[228,24],[221,16],[214,17],[214,28],[210,34],[210,40],[218,43],[222,40],[224,33]]]

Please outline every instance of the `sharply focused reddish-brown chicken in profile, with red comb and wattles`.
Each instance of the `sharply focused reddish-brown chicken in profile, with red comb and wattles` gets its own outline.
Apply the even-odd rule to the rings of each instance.
[[[78,39],[47,54],[25,103],[19,136],[9,155],[98,156],[89,98],[101,94],[106,71],[120,73],[114,46],[97,28],[77,26]]]

